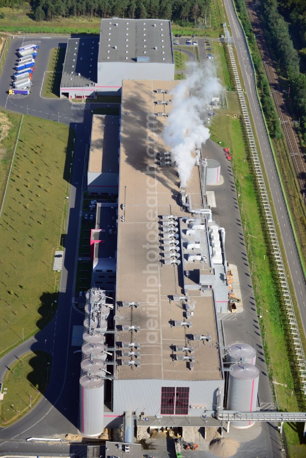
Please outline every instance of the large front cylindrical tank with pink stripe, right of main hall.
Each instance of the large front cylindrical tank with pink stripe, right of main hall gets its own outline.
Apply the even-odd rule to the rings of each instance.
[[[229,371],[228,410],[253,412],[256,410],[259,369],[253,364],[236,363]],[[254,421],[232,421],[235,428],[249,428]]]

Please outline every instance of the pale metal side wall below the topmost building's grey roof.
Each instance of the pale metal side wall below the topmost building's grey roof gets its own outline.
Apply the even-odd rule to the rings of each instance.
[[[174,81],[174,64],[98,62],[98,83],[95,90],[114,91],[122,86],[122,80]]]

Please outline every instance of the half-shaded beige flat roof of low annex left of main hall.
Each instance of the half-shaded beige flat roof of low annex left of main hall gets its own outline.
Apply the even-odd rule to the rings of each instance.
[[[94,114],[92,119],[88,171],[118,173],[119,116]]]

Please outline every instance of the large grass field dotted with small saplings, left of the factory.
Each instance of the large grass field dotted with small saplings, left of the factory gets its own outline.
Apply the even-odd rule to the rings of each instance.
[[[73,134],[24,116],[0,220],[0,355],[50,319],[58,274]],[[68,146],[67,146],[68,145]]]

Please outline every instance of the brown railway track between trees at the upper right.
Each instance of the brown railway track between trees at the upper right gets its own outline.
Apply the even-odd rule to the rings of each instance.
[[[267,42],[255,9],[256,6],[254,7],[254,4],[252,4],[250,0],[246,0],[246,7],[253,27],[253,32],[257,35],[256,40],[262,64],[267,75],[274,104],[288,145],[290,158],[300,187],[300,193],[303,194],[306,193],[306,162],[300,148],[300,142],[295,132],[294,123],[288,113],[284,91],[278,81],[274,63],[269,53]]]

